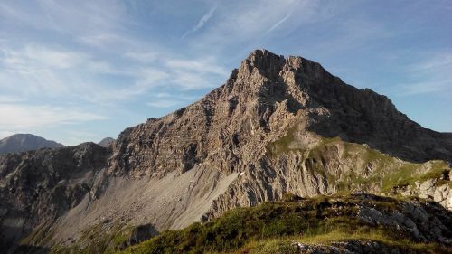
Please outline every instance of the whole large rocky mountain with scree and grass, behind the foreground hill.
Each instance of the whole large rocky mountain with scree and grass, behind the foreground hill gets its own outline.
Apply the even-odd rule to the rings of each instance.
[[[102,253],[287,193],[413,195],[447,213],[451,161],[452,136],[387,97],[257,50],[221,87],[113,146],[0,155],[0,244]]]

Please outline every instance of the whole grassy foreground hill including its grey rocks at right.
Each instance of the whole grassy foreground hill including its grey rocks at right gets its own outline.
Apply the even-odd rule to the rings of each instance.
[[[418,199],[287,194],[281,202],[165,231],[120,253],[451,253],[451,215]]]

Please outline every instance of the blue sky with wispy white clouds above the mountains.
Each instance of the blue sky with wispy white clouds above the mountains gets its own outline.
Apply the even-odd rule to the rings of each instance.
[[[0,138],[116,137],[201,99],[257,48],[452,131],[451,1],[2,0]]]

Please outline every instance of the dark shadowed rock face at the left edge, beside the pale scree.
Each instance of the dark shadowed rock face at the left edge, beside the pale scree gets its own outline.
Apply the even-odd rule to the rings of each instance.
[[[32,230],[46,231],[93,190],[110,151],[93,143],[0,155],[3,249]]]

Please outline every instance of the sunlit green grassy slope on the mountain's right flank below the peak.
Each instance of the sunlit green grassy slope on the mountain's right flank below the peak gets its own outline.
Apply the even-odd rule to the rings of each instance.
[[[279,155],[289,153],[302,153],[306,165],[315,173],[326,173],[329,184],[336,184],[338,192],[349,192],[353,190],[366,190],[370,185],[377,184],[382,193],[390,192],[398,186],[414,185],[415,182],[423,182],[431,178],[439,179],[442,174],[450,170],[444,161],[433,160],[424,164],[402,161],[391,155],[382,154],[380,151],[368,146],[344,142],[339,137],[320,137],[320,142],[311,149],[293,148],[291,144],[296,139],[296,130],[291,128],[286,136],[282,136],[267,146],[268,155],[277,158]],[[295,146],[297,147],[297,146]],[[337,151],[337,147],[343,149],[342,155],[336,159],[344,165],[350,164],[347,172],[341,175],[328,173],[325,169],[325,161]],[[372,166],[371,170],[366,167]],[[426,170],[427,169],[427,172]],[[365,175],[363,172],[368,171]],[[425,172],[422,174],[422,172]],[[438,181],[438,184],[442,183]]]

